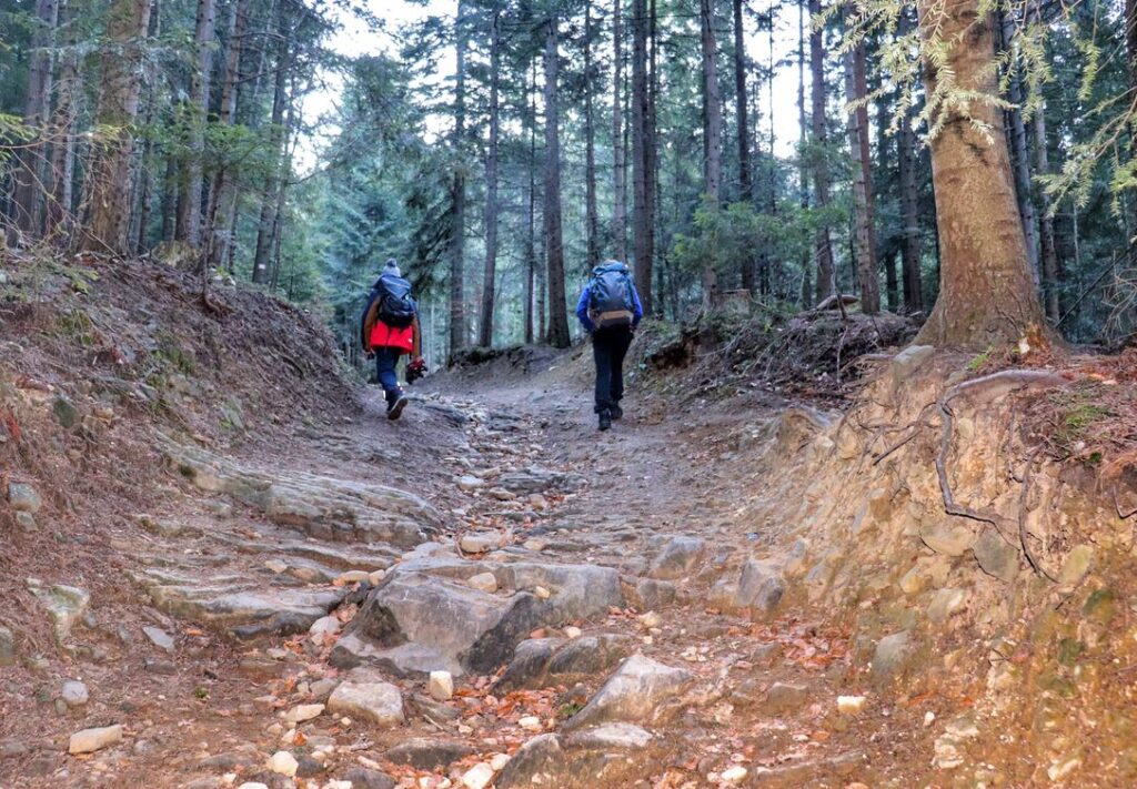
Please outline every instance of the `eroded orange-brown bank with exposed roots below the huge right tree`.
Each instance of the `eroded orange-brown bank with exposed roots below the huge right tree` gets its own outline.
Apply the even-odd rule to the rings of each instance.
[[[1119,446],[1103,457],[1077,434],[1120,413],[1087,391],[1118,382],[1086,367],[978,376],[913,347],[839,418],[791,409],[769,425],[749,517],[791,533],[717,597],[827,612],[850,628],[852,681],[905,707],[948,703],[926,721],[936,781],[1137,774],[1134,490]]]

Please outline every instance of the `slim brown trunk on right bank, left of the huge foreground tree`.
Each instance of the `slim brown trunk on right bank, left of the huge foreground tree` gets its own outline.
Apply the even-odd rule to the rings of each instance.
[[[849,150],[853,153],[853,208],[856,224],[856,271],[861,284],[861,312],[880,312],[877,276],[877,231],[873,225],[872,156],[869,151],[869,107],[864,73],[864,43],[845,53],[845,94],[855,106],[848,114]]]

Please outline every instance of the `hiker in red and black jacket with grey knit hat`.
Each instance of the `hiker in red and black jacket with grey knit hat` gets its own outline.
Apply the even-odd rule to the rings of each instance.
[[[412,374],[421,376],[425,372],[425,364],[421,354],[418,305],[410,296],[410,283],[402,279],[399,264],[393,258],[387,261],[383,273],[371,288],[359,340],[367,351],[367,358],[375,357],[379,383],[387,396],[387,418],[397,420],[407,407],[407,396],[399,388],[396,372],[399,357],[410,355],[408,381]]]

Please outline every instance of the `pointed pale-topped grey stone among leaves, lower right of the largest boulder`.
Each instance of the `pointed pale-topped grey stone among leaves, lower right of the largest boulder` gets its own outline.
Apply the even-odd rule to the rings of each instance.
[[[686,668],[673,668],[642,654],[629,657],[589,699],[565,722],[565,729],[623,721],[655,725],[673,719],[683,706],[683,695],[695,676]]]

